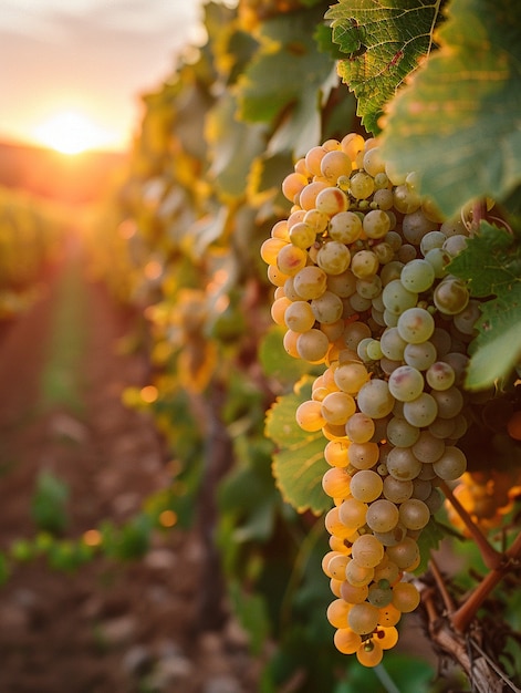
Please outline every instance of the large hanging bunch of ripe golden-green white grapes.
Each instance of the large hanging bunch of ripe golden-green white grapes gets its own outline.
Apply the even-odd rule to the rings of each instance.
[[[410,571],[442,504],[440,479],[466,470],[457,442],[480,309],[447,266],[469,231],[419,196],[415,174],[397,176],[377,139],[355,133],[311,148],[282,192],[291,214],[261,256],[285,350],[324,364],[295,416],[322,431],[330,465],[327,618],[336,648],[374,666],[419,603]]]

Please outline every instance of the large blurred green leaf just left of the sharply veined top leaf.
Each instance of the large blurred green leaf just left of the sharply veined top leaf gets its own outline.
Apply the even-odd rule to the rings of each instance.
[[[294,148],[300,155],[319,143],[323,91],[333,71],[331,55],[313,39],[322,15],[319,8],[265,21],[259,51],[238,81],[241,118],[273,126],[284,116],[272,153]]]

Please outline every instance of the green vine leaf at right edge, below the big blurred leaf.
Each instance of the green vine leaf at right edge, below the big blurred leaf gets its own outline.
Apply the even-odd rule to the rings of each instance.
[[[507,230],[482,221],[451,262],[481,304],[466,386],[481,390],[509,374],[521,358],[521,247]]]

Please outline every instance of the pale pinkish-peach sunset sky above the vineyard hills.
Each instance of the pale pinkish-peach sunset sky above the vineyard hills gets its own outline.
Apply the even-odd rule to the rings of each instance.
[[[201,3],[0,0],[0,141],[58,147],[61,137],[66,151],[69,131],[83,146],[125,149],[139,94],[201,41]]]

